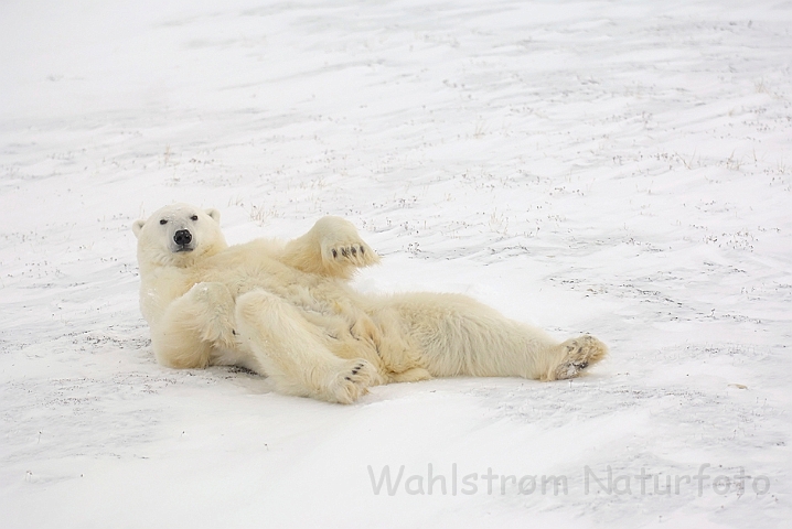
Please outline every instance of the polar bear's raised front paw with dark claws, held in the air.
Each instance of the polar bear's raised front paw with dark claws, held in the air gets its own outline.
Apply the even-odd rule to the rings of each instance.
[[[286,245],[281,260],[303,272],[350,279],[357,268],[379,262],[352,223],[323,217],[302,237]]]

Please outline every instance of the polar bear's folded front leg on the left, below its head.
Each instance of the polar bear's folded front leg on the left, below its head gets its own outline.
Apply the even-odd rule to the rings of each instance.
[[[193,285],[151,328],[157,360],[176,368],[206,367],[213,348],[233,348],[235,339],[234,298],[217,282]]]

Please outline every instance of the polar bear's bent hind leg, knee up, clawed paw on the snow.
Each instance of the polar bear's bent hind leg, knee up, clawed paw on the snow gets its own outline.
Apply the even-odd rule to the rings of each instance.
[[[315,326],[268,292],[239,296],[236,323],[243,346],[280,392],[349,404],[381,381],[367,360],[333,355],[322,345]]]

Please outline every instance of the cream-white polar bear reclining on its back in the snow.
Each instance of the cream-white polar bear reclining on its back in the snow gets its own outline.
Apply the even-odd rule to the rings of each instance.
[[[363,295],[349,279],[379,257],[339,217],[288,242],[228,246],[216,209],[174,204],[132,230],[140,307],[165,366],[243,366],[277,391],[351,403],[375,385],[432,377],[568,379],[608,352],[464,295]]]

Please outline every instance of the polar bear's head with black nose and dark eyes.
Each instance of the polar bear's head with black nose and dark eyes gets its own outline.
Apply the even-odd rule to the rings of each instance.
[[[146,220],[136,220],[138,261],[145,264],[192,266],[202,257],[227,248],[220,229],[220,212],[172,204]]]

